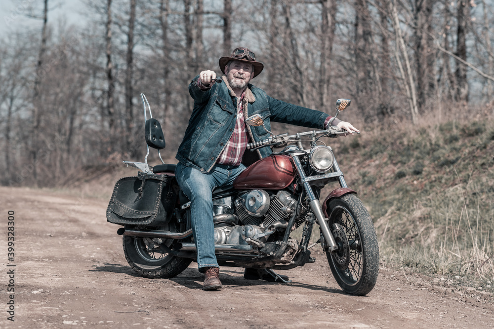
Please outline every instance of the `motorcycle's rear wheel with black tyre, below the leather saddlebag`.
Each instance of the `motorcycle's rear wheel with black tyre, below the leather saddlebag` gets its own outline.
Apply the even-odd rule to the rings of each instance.
[[[156,229],[176,231],[169,223]],[[190,258],[181,258],[168,254],[163,245],[170,247],[172,239],[123,237],[125,259],[134,271],[145,278],[173,278],[182,273],[192,262]]]

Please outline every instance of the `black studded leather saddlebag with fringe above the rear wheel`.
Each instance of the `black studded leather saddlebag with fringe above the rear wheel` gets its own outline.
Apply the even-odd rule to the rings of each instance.
[[[117,181],[106,219],[120,225],[156,227],[170,220],[178,195],[175,177],[139,172]]]

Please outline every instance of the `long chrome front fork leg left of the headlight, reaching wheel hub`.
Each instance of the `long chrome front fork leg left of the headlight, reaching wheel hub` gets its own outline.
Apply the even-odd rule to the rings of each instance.
[[[300,180],[304,182],[304,179],[307,177],[303,170],[302,164],[300,163],[300,159],[296,153],[292,153],[291,158],[293,160],[293,164],[298,171],[298,175],[300,175]],[[341,182],[340,182],[341,183]],[[324,217],[323,210],[321,205],[319,204],[319,199],[316,197],[316,194],[312,190],[309,182],[303,183],[305,191],[307,192],[307,196],[309,197],[309,205],[311,206],[312,212],[317,219],[319,227],[321,228],[321,232],[323,233],[324,240],[326,240],[326,244],[328,246],[329,252],[335,252],[338,250],[338,245],[336,241],[334,241],[334,237],[329,230],[329,224],[326,218]]]

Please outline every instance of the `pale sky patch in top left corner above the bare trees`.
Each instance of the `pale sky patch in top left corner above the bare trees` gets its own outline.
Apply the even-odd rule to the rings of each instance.
[[[31,7],[33,13],[41,17],[43,3],[43,0],[0,0],[0,36],[16,30],[41,29],[42,20],[28,15]],[[56,27],[60,19],[65,19],[69,25],[82,26],[85,23],[84,8],[82,0],[48,0],[48,23]]]

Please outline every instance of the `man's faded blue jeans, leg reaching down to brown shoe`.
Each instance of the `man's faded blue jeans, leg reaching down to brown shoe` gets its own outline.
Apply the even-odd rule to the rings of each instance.
[[[219,267],[214,255],[214,224],[212,190],[215,187],[231,185],[246,167],[215,165],[209,173],[187,167],[181,162],[175,169],[175,177],[190,203],[192,233],[197,248],[199,271],[204,267]]]

